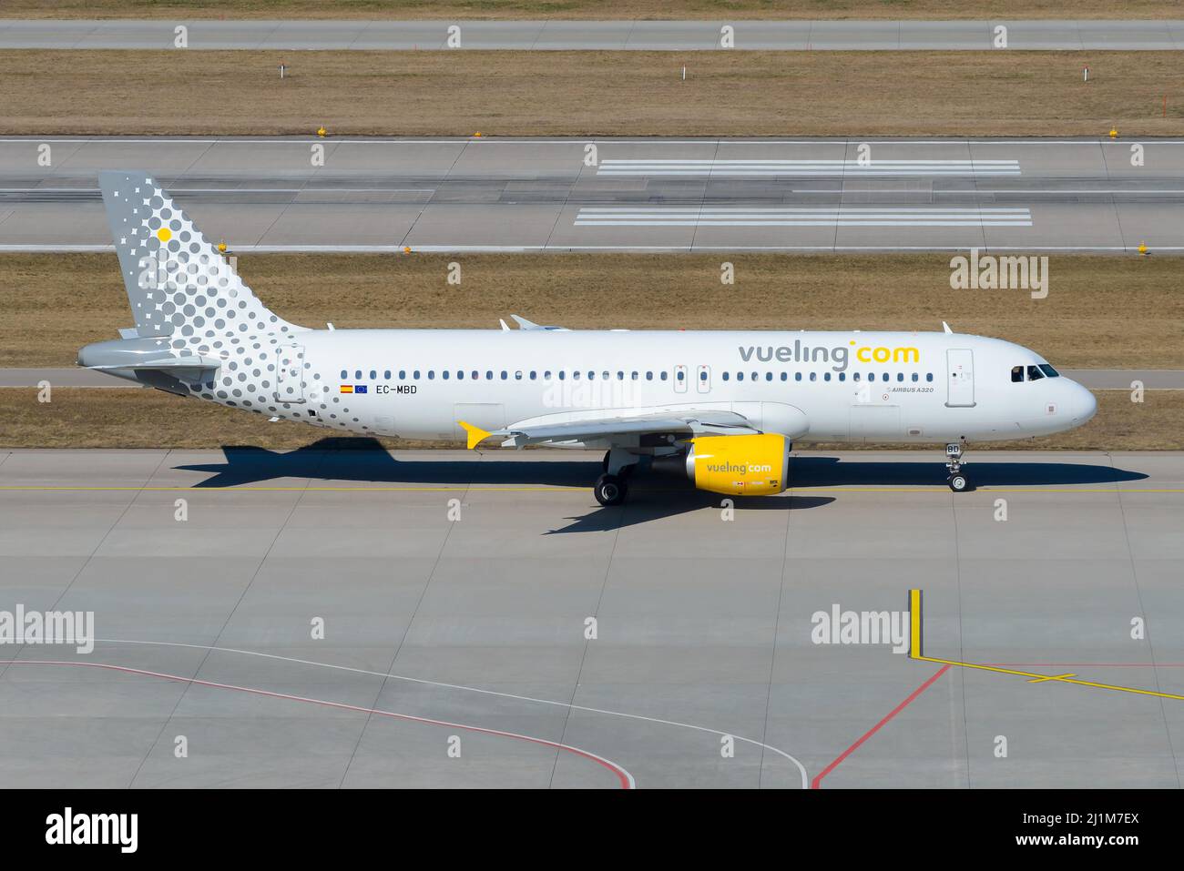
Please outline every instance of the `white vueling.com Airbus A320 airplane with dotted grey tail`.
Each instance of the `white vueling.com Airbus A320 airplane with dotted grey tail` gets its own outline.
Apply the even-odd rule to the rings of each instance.
[[[284,321],[150,175],[101,172],[135,327],[78,363],[333,432],[604,450],[593,495],[641,465],[728,496],[783,492],[793,444],[946,446],[1081,426],[1093,394],[1035,351],[941,333],[311,329]],[[224,246],[223,246],[224,247]],[[326,285],[326,292],[332,286]]]

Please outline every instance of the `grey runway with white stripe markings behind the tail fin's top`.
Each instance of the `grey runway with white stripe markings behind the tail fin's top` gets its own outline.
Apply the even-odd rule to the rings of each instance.
[[[0,251],[110,250],[104,168],[242,253],[1184,252],[1182,140],[842,137],[8,137]]]

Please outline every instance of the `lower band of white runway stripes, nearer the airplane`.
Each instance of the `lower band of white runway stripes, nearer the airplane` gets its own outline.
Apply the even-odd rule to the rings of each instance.
[[[1030,227],[1022,207],[587,206],[577,227]]]

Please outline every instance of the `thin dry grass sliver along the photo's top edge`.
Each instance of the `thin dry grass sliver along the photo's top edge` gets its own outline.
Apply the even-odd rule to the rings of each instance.
[[[5,0],[5,18],[832,19],[1163,18],[1172,0]]]

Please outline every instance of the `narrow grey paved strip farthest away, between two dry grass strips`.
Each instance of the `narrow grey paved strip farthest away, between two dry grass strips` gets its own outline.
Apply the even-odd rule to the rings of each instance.
[[[187,21],[0,20],[0,49],[1176,51],[1180,20],[1047,21]],[[1005,27],[1000,44],[998,27]],[[450,27],[458,32],[451,36]]]

